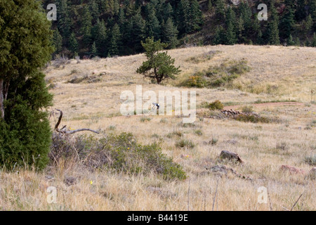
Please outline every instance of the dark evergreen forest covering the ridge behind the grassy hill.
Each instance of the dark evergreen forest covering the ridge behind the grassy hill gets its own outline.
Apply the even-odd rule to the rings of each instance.
[[[234,1],[235,2],[235,1]],[[183,44],[316,46],[316,0],[43,0],[56,4],[54,56],[124,56],[143,52],[140,41]],[[258,4],[268,20],[257,18]]]

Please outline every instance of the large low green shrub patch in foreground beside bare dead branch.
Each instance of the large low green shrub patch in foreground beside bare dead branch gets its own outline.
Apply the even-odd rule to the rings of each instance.
[[[53,134],[49,154],[51,165],[60,160],[77,162],[88,169],[110,169],[127,174],[161,175],[164,179],[186,179],[183,168],[162,153],[158,143],[140,145],[131,133],[106,138]]]

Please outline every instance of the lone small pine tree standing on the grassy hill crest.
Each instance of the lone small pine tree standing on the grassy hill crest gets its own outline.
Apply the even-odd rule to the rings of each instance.
[[[164,50],[168,44],[154,41],[154,37],[147,38],[145,42],[141,41],[145,49],[145,56],[147,61],[136,70],[136,72],[143,74],[145,77],[155,79],[157,84],[160,84],[164,79],[176,79],[181,70],[180,66],[176,68],[174,59],[168,56],[166,52],[159,52]]]

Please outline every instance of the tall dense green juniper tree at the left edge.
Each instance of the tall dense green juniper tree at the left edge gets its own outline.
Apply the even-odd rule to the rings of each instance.
[[[0,1],[0,167],[48,162],[51,128],[45,75],[54,49],[51,23],[41,1]]]

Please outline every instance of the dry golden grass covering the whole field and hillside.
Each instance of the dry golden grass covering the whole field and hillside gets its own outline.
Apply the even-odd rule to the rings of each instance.
[[[219,52],[200,63],[187,60],[209,51]],[[258,203],[260,186],[268,188],[272,210],[291,209],[303,192],[294,210],[316,210],[316,180],[279,170],[281,165],[298,167],[307,173],[312,168],[304,159],[316,153],[315,126],[309,126],[316,119],[315,104],[309,103],[310,91],[316,87],[315,49],[237,45],[176,49],[169,53],[183,71],[176,81],[166,82],[163,86],[150,84],[149,80],[136,74],[136,68],[145,60],[143,55],[106,58],[98,62],[81,60],[78,64],[72,60],[65,68],[48,67],[46,79],[56,84],[51,93],[54,94],[53,108],[64,113],[61,125],[117,134],[131,132],[144,144],[160,139],[163,152],[183,166],[189,176],[187,180],[165,181],[154,174],[129,176],[106,171],[89,172],[67,163],[45,172],[33,172],[32,169],[1,171],[0,210],[212,210],[217,182],[214,210],[270,210],[269,201]],[[121,91],[135,93],[137,84],[143,85],[143,91],[156,93],[160,90],[189,90],[174,85],[210,65],[242,59],[247,60],[252,69],[235,80],[239,89],[190,89],[197,91],[197,105],[203,101],[220,100],[242,107],[259,99],[290,99],[303,104],[254,105],[257,113],[280,118],[280,123],[272,124],[197,118],[194,127],[182,127],[182,119],[175,116],[146,115],[152,120],[140,122],[142,116],[119,115]],[[106,74],[96,83],[67,83],[75,75],[92,76],[93,71],[97,76],[102,72]],[[162,122],[162,119],[166,121]],[[54,124],[53,119],[51,122]],[[196,130],[202,131],[202,135],[197,135]],[[169,138],[168,134],[173,131],[181,132],[183,136]],[[218,140],[214,145],[209,143],[212,138]],[[180,139],[192,141],[195,148],[177,148],[176,142]],[[277,148],[280,143],[286,143],[287,148]],[[252,180],[232,174],[220,178],[206,170],[218,164],[216,160],[221,150],[238,153],[244,165],[222,164]],[[182,155],[190,157],[183,158]],[[70,177],[75,182],[67,185],[65,179]],[[57,188],[56,204],[46,201],[48,186]]]

